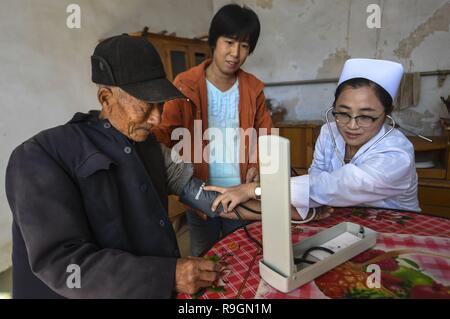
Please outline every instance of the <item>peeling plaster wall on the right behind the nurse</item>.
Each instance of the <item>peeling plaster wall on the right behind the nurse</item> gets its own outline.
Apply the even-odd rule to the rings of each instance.
[[[214,12],[229,2],[213,0]],[[337,78],[350,57],[398,61],[407,72],[450,69],[448,0],[231,2],[251,7],[260,17],[260,41],[244,68],[264,82]],[[366,26],[366,9],[372,3],[382,9],[381,29]],[[313,120],[322,118],[335,88],[333,83],[308,84],[268,87],[265,92],[288,109],[286,119]],[[450,76],[441,88],[437,77],[422,77],[420,104],[397,114],[400,123],[433,133],[432,122],[447,115],[439,97],[449,94]]]

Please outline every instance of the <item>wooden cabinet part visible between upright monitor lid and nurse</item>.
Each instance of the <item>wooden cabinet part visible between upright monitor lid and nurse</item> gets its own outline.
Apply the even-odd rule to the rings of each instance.
[[[280,136],[291,142],[291,166],[298,174],[306,174],[312,163],[314,145],[320,133],[322,121],[277,122]]]

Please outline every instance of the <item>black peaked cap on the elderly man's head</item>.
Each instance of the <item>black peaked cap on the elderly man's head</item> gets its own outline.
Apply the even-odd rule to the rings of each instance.
[[[143,37],[123,34],[100,42],[91,64],[92,82],[118,86],[137,99],[160,103],[184,98],[167,80],[156,49]]]

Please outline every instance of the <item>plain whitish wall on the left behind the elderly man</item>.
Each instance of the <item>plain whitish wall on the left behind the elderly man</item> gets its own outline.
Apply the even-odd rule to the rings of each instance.
[[[81,29],[66,7],[81,7]],[[10,210],[4,179],[11,151],[35,133],[98,108],[90,55],[99,39],[123,32],[208,32],[210,0],[0,0],[0,271],[9,265]]]

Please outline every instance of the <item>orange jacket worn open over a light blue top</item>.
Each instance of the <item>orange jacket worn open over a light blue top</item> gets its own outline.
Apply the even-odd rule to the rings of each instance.
[[[174,85],[186,96],[187,99],[177,99],[164,104],[161,124],[153,129],[153,133],[159,142],[168,147],[173,147],[179,141],[171,140],[172,131],[176,128],[187,128],[191,135],[191,161],[194,164],[194,176],[202,180],[208,180],[208,163],[203,158],[203,150],[207,141],[201,139],[201,153],[197,146],[197,156],[201,156],[201,163],[195,163],[195,142],[194,120],[201,120],[201,137],[208,129],[208,97],[206,89],[206,67],[211,63],[207,60],[202,64],[193,67],[186,72],[179,74]],[[272,128],[272,119],[265,106],[264,84],[255,76],[243,71],[238,71],[239,79],[239,126],[244,131],[248,128],[255,128],[258,135],[259,128]],[[199,140],[200,134],[197,139]],[[243,144],[244,143],[244,144]],[[245,148],[244,148],[245,147]],[[241,149],[245,149],[245,159],[240,163],[241,182],[245,182],[247,170],[258,163],[249,163],[249,152],[257,152],[257,147],[249,150],[249,139],[241,136]],[[254,154],[256,155],[256,153]],[[241,156],[242,158],[242,156]]]

